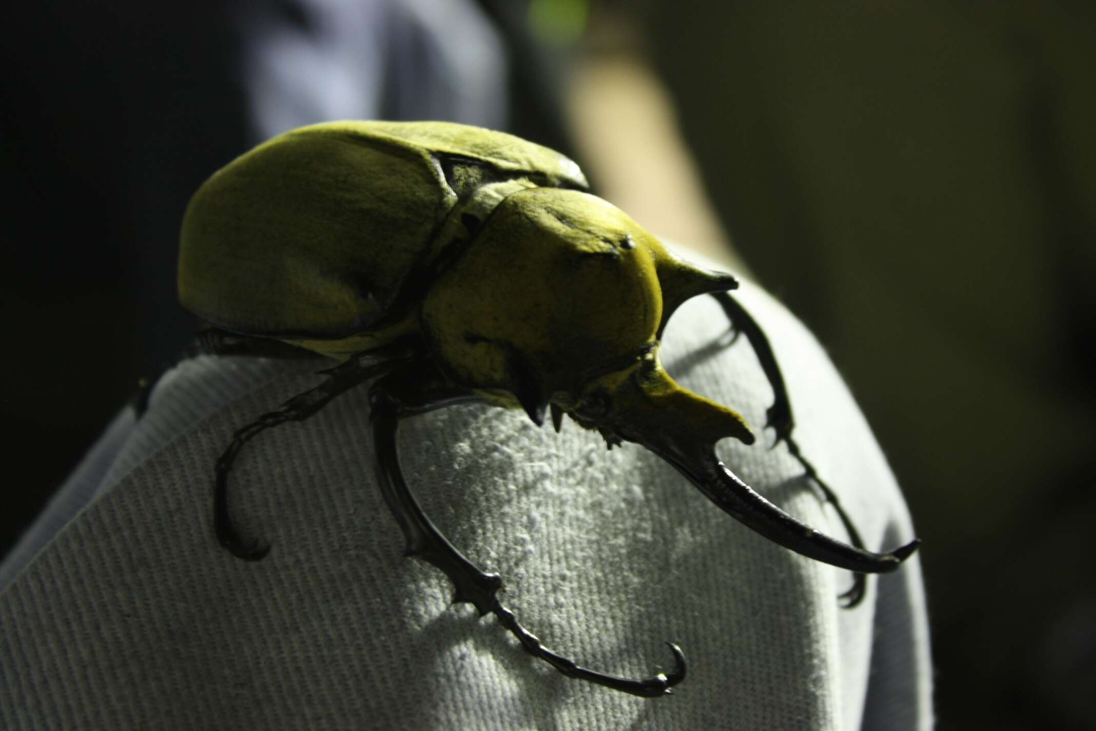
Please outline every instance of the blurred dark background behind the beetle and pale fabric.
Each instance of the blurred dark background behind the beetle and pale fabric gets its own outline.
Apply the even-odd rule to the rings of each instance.
[[[445,116],[574,156],[814,330],[924,539],[940,729],[1096,728],[1096,7],[339,15],[353,4],[46,1],[5,19],[0,548],[190,340],[175,239],[210,172],[296,124]],[[365,71],[331,72],[346,66]]]

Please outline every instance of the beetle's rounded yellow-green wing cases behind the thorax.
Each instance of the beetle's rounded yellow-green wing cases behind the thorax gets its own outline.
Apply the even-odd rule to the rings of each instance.
[[[436,258],[460,222],[446,227],[461,199],[517,179],[586,187],[558,152],[476,127],[335,122],[292,130],[194,195],[183,219],[180,298],[236,332],[359,336]]]

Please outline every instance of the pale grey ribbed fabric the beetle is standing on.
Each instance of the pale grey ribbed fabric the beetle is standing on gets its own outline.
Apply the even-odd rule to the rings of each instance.
[[[796,435],[871,548],[913,530],[871,433],[802,325],[755,287]],[[772,400],[710,298],[673,319],[663,363],[757,431]],[[231,510],[273,549],[240,561],[213,536],[213,465],[232,431],[316,385],[319,362],[199,357],[124,412],[0,579],[5,729],[926,729],[920,566],[871,578],[753,534],[637,445],[568,422],[457,407],[404,422],[409,483],[448,538],[506,581],[506,603],[580,664],[648,676],[681,644],[688,677],[641,699],[568,679],[493,617],[449,603],[406,559],[364,441],[365,389],[263,433],[236,462]],[[772,432],[721,458],[773,502],[845,538]],[[64,524],[58,530],[58,525]],[[54,535],[56,534],[56,535]]]

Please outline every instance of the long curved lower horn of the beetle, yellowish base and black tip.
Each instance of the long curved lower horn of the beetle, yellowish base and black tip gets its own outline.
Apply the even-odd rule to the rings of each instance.
[[[716,443],[724,436],[753,442],[741,416],[682,388],[661,366],[621,381],[613,403],[618,436],[669,461],[723,512],[785,548],[864,573],[893,571],[917,548],[914,540],[888,553],[872,553],[834,540],[765,500],[716,456]]]

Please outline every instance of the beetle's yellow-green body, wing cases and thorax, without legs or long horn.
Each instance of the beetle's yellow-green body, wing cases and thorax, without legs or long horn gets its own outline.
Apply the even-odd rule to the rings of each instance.
[[[574,162],[503,133],[302,127],[194,195],[180,298],[218,328],[336,358],[421,331],[446,375],[507,406],[521,400],[517,354],[538,399],[522,406],[570,410],[592,374],[654,342],[676,305],[734,286],[585,187]]]

